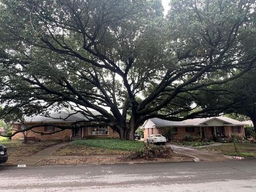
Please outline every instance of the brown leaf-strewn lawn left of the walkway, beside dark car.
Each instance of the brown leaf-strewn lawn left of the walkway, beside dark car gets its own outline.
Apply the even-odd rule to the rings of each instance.
[[[57,141],[45,141],[38,143],[25,144],[22,142],[1,142],[7,148],[9,157],[27,157],[36,154],[37,152],[56,145]]]

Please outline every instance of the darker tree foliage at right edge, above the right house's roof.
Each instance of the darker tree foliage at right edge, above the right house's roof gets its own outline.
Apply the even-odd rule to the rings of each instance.
[[[249,117],[256,131],[256,75],[255,68],[241,77],[221,86],[204,90],[198,98],[202,108],[221,108],[223,113],[236,114],[236,118],[245,121]],[[209,103],[208,100],[212,102]],[[214,106],[214,107],[213,107]]]

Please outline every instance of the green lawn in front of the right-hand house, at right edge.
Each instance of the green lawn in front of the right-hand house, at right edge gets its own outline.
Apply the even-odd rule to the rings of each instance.
[[[221,151],[224,155],[242,156],[242,157],[255,157],[256,156],[256,143],[243,142],[237,143],[238,153],[235,152],[234,143],[223,143],[221,146],[207,147],[207,149],[214,151]]]

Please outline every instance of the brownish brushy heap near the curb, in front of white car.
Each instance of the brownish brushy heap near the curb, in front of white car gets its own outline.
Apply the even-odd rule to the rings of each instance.
[[[136,149],[128,156],[130,159],[154,159],[154,158],[168,158],[172,156],[173,150],[170,147],[155,146],[148,143],[144,144],[143,149]]]

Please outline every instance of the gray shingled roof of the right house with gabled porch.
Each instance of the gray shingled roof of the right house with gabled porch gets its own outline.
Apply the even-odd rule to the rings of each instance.
[[[194,118],[194,119],[187,119],[181,122],[175,121],[167,121],[159,118],[151,118],[150,120],[157,126],[205,126],[207,122],[212,121],[213,119],[217,119],[219,121],[225,122],[229,125],[246,125],[244,122],[239,122],[235,119],[231,119],[229,117],[208,117],[208,118]]]

